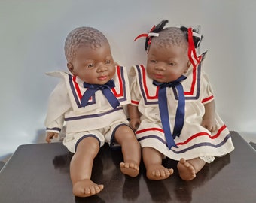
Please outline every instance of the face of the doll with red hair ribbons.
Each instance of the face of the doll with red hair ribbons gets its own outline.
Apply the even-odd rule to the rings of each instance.
[[[189,67],[190,61],[185,46],[160,47],[151,43],[146,68],[151,79],[169,83],[181,77]]]

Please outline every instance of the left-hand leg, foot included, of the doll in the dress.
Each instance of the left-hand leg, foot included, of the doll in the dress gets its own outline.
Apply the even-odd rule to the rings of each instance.
[[[150,180],[163,180],[173,174],[172,168],[165,168],[162,165],[163,155],[151,147],[142,148],[142,157],[147,177]]]

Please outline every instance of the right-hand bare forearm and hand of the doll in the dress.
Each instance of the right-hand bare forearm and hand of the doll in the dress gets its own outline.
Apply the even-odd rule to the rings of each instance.
[[[208,129],[210,132],[215,131],[216,121],[215,121],[215,101],[209,102],[204,105],[205,114],[203,115],[202,126]]]

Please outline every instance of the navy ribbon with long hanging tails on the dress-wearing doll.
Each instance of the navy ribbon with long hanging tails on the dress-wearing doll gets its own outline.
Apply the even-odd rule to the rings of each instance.
[[[158,83],[155,80],[153,81],[154,85],[159,86],[158,105],[160,110],[161,122],[163,125],[163,131],[164,135],[166,136],[167,147],[169,148],[169,150],[172,148],[172,146],[177,147],[174,139],[176,138],[176,136],[179,137],[179,135],[181,135],[181,129],[183,128],[184,125],[185,97],[183,86],[181,85],[180,82],[185,79],[187,79],[187,77],[181,75],[181,77],[179,77],[177,80],[170,83]],[[169,122],[166,87],[176,88],[178,91],[178,107],[176,109],[173,132],[171,132]]]

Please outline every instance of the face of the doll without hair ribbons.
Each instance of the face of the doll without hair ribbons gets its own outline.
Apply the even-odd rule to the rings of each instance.
[[[115,66],[108,42],[101,47],[78,48],[73,62],[68,63],[69,71],[90,84],[103,85],[114,77]]]

